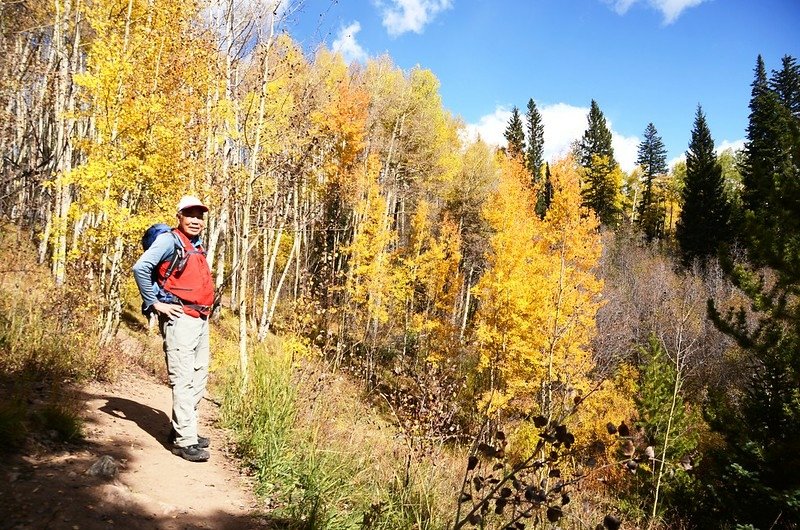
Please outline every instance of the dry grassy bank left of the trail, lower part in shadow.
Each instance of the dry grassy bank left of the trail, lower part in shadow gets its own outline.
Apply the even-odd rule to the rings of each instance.
[[[28,234],[0,227],[0,451],[80,440],[75,389],[121,369],[113,349],[96,344],[80,290],[54,296],[35,256]]]

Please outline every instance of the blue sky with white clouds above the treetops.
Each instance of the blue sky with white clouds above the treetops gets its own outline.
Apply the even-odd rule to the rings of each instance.
[[[490,143],[533,98],[557,156],[595,99],[625,170],[649,122],[670,161],[683,155],[698,104],[717,147],[740,146],[758,54],[768,71],[800,60],[800,0],[306,0],[292,18],[309,51],[430,69],[445,108]]]

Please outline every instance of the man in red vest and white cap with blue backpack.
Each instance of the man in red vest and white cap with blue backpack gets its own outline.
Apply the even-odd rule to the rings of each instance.
[[[176,228],[155,225],[145,233],[145,251],[133,266],[133,275],[143,312],[158,315],[164,339],[172,387],[172,452],[204,462],[209,458],[209,440],[197,434],[197,407],[208,379],[208,316],[214,303],[214,283],[200,241],[208,208],[197,197],[185,195],[177,210]],[[157,237],[150,244],[146,240],[153,235]]]

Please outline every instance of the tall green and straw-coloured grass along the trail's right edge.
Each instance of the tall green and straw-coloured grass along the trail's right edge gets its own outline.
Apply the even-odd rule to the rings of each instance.
[[[277,341],[250,355],[245,394],[235,370],[221,381],[222,420],[288,530],[447,526],[455,492],[442,492],[446,466],[415,462],[406,473],[405,443],[357,396],[320,391],[326,375]]]

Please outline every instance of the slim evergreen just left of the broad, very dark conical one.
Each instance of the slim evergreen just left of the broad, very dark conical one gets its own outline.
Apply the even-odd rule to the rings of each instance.
[[[644,172],[644,190],[638,205],[638,222],[648,241],[663,236],[664,209],[653,194],[653,181],[667,172],[667,149],[652,123],[647,124],[639,144],[636,163]]]

